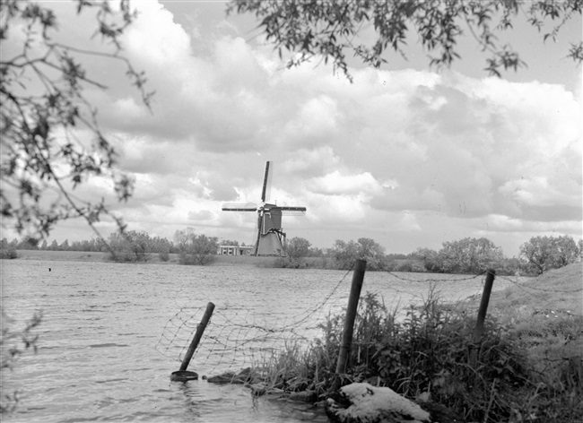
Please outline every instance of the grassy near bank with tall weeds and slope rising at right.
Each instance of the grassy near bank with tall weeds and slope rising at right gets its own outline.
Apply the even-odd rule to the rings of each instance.
[[[469,421],[580,422],[583,416],[581,263],[493,292],[473,345],[479,298],[444,304],[430,292],[396,319],[381,298],[361,298],[343,384],[368,381],[431,399]],[[263,391],[335,389],[343,315],[330,315],[308,348],[290,343],[262,368]],[[474,348],[477,358],[473,359]]]

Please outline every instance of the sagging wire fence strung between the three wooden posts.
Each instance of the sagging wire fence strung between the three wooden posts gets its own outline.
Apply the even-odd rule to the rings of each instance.
[[[275,306],[281,310],[265,310],[260,306],[233,302],[217,304],[203,341],[196,350],[196,366],[204,368],[208,374],[257,367],[286,346],[307,347],[321,334],[326,317],[340,313],[346,306],[351,273],[336,273],[337,280],[321,299],[311,305],[306,300],[303,309],[301,306],[294,308],[299,312],[283,309],[285,298],[279,298],[281,301]],[[368,272],[362,292],[378,293],[387,308],[405,308],[421,304],[431,289],[443,292],[443,298],[448,301],[476,298],[482,293],[484,279],[485,272],[475,275]],[[496,279],[495,290],[507,287],[527,292],[546,290],[529,286],[526,278],[497,276]],[[318,280],[313,283],[318,283]],[[581,291],[583,288],[564,292],[576,294]],[[178,312],[163,328],[156,350],[167,358],[181,361],[204,308],[205,303],[179,306]]]

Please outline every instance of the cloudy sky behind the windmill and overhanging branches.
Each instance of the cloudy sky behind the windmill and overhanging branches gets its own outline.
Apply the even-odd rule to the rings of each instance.
[[[44,3],[57,11],[57,38],[98,48],[90,13]],[[312,246],[370,237],[406,254],[487,237],[514,256],[530,237],[582,237],[582,70],[565,57],[581,39],[580,17],[557,43],[524,24],[509,31],[528,67],[501,79],[483,71],[469,36],[462,59],[441,71],[411,37],[408,60],[388,55],[381,69],[351,61],[351,83],[318,57],[287,69],[255,18],[226,17],[222,2],[132,4],[139,15],[123,54],[156,91],[152,109],[122,65],[85,62],[108,86],[85,94],[119,168],[135,177],[132,199],[110,200],[128,229],[172,239],[190,227],[252,244],[255,213],[221,207],[259,203],[271,160],[271,200],[307,207],[285,216],[283,230]],[[109,199],[112,189],[94,178],[76,194]],[[114,224],[98,229],[107,237]],[[83,221],[67,221],[49,239],[91,236]]]

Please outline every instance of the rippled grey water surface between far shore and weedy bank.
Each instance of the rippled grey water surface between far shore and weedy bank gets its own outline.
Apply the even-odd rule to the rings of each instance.
[[[170,383],[170,373],[179,367],[172,358],[185,346],[173,346],[170,356],[154,348],[173,315],[208,301],[216,306],[209,328],[213,322],[218,325],[221,315],[233,314],[251,325],[301,322],[315,328],[329,311],[346,304],[351,276],[344,278],[345,272],[18,260],[1,264],[4,310],[20,322],[43,310],[38,354],[19,358],[13,371],[2,376],[3,393],[21,392],[17,411],[3,421],[326,421],[322,410],[257,399],[240,385]],[[479,292],[481,283],[480,278],[443,283],[439,290],[448,299],[464,298]],[[335,295],[319,308],[335,287]],[[426,296],[428,284],[370,272],[363,286],[367,290],[382,295],[387,306],[399,301],[404,306]],[[318,334],[315,329],[304,333]],[[210,344],[208,338],[201,346],[204,342]],[[241,353],[242,358],[225,359],[239,351],[203,351],[196,351],[189,367],[201,375],[239,369],[248,357]]]

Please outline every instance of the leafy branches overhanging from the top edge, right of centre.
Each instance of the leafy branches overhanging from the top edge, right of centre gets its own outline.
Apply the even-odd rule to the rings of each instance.
[[[499,44],[500,33],[524,19],[539,31],[543,39],[557,39],[562,25],[581,14],[580,0],[418,1],[372,0],[335,2],[280,0],[232,0],[227,13],[251,13],[260,21],[266,39],[283,56],[293,53],[288,67],[300,65],[313,56],[331,61],[349,79],[346,56],[352,54],[365,65],[379,67],[387,62],[385,53],[393,50],[405,56],[409,32],[421,40],[431,55],[430,65],[448,66],[459,59],[457,40],[466,29],[476,47],[486,52],[485,70],[500,76],[500,71],[526,65],[509,45]],[[544,22],[553,26],[544,29]],[[557,23],[555,23],[557,22]],[[372,26],[374,37],[359,37],[363,28]],[[368,39],[372,41],[367,42]],[[583,43],[576,40],[566,51],[576,62],[583,61]]]

